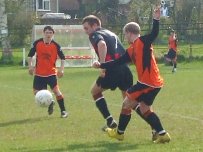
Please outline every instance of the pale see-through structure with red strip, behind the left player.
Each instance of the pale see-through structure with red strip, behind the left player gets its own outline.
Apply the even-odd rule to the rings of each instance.
[[[34,25],[32,41],[43,36],[46,25]],[[82,25],[51,25],[54,30],[54,40],[61,46],[66,57],[65,67],[89,67],[96,60],[96,54],[85,34]],[[60,60],[56,62],[60,66]]]

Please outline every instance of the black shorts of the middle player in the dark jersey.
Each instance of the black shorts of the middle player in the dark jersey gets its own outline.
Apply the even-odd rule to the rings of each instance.
[[[98,77],[96,83],[103,89],[115,90],[118,87],[120,90],[126,91],[133,85],[133,76],[129,67],[122,65],[112,70],[106,70],[105,77]]]

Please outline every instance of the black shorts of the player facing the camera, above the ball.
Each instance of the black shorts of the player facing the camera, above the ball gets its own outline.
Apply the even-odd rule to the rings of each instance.
[[[57,79],[55,75],[48,77],[34,76],[33,88],[35,90],[47,89],[47,85],[49,85],[51,89],[57,86]]]

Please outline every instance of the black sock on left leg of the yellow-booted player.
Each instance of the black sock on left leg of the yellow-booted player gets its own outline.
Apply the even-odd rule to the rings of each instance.
[[[131,119],[130,115],[120,114],[119,117],[119,124],[118,124],[118,134],[123,134],[125,132],[125,129]]]

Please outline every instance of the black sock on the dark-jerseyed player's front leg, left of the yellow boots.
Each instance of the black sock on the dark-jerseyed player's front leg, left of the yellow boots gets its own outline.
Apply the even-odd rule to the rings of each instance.
[[[104,119],[107,119],[109,116],[111,116],[107,104],[106,104],[106,100],[104,98],[99,99],[98,101],[96,101],[96,106],[99,109],[100,113],[102,114],[102,116],[104,117]],[[110,121],[112,117],[109,117],[107,119],[107,121]],[[113,118],[112,118],[113,120]]]

